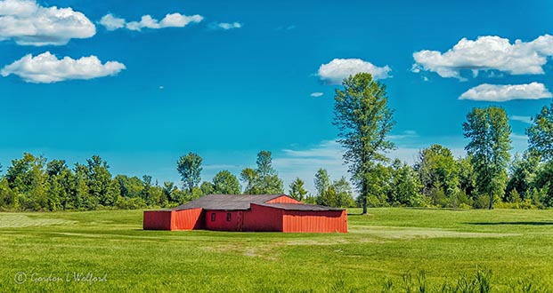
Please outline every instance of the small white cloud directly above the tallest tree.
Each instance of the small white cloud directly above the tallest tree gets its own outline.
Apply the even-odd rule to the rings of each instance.
[[[391,77],[392,69],[387,65],[378,67],[362,59],[333,59],[319,67],[318,75],[326,83],[339,84],[349,75],[370,73],[375,80]]]

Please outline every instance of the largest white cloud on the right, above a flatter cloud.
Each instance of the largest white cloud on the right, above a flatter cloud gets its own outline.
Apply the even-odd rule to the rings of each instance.
[[[433,71],[442,77],[460,76],[460,70],[499,70],[511,75],[541,75],[543,66],[553,56],[553,36],[539,36],[531,42],[516,40],[511,44],[500,36],[480,36],[476,41],[463,38],[450,50],[416,51],[412,71]]]

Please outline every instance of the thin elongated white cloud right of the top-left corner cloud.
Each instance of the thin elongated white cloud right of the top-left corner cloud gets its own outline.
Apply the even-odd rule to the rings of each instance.
[[[198,23],[203,19],[203,16],[199,14],[189,16],[181,13],[169,13],[162,20],[156,20],[150,15],[142,15],[140,21],[127,22],[125,19],[118,18],[109,13],[104,15],[99,23],[107,30],[126,28],[140,31],[142,28],[184,28],[190,23]]]

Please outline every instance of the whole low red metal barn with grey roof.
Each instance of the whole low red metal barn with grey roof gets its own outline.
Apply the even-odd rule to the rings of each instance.
[[[145,210],[143,228],[347,233],[347,215],[346,210],[305,204],[285,194],[212,194],[170,210]]]

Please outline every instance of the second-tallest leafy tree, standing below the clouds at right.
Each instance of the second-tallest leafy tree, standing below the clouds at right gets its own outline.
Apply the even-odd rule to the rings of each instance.
[[[508,116],[501,107],[473,108],[463,123],[471,163],[476,172],[476,188],[490,197],[493,209],[494,196],[501,196],[507,183],[508,151],[511,148]]]

